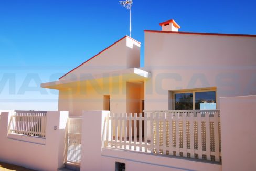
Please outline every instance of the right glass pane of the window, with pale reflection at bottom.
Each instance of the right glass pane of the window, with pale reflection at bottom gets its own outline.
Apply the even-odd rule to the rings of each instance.
[[[215,91],[195,92],[195,109],[216,109]]]

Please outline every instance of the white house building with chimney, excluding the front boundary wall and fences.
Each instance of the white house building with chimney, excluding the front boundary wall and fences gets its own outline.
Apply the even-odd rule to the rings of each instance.
[[[113,113],[220,109],[220,97],[256,95],[255,35],[178,32],[174,20],[160,25],[144,31],[143,68],[140,42],[125,36],[42,87],[58,89],[59,110],[73,116],[109,106]],[[186,107],[178,104],[184,95]]]

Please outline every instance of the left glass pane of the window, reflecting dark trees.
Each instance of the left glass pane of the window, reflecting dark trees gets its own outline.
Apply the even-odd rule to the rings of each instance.
[[[175,110],[193,110],[193,93],[176,93]]]

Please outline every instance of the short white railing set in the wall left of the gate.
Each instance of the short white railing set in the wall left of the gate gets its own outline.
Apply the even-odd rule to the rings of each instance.
[[[14,113],[9,123],[9,134],[46,137],[46,113]]]

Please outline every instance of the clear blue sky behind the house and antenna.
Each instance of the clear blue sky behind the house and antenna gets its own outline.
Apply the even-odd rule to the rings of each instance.
[[[256,1],[136,1],[132,37],[161,30],[256,34]],[[0,109],[57,110],[58,91],[39,88],[129,35],[129,11],[118,1],[0,0]]]

